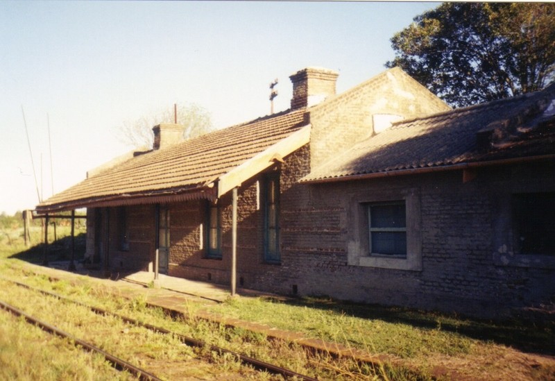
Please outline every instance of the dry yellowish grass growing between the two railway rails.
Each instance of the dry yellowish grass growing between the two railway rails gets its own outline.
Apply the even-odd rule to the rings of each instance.
[[[56,283],[53,286],[53,289],[58,288]],[[69,287],[65,285],[62,289],[68,291]],[[253,374],[252,370],[241,368],[239,364],[235,364],[233,368],[232,362],[237,363],[237,359],[225,359],[223,365],[215,361],[212,364],[200,361],[192,348],[182,345],[172,335],[160,335],[139,326],[128,325],[113,316],[99,316],[86,307],[68,304],[51,296],[43,296],[34,291],[10,285],[8,282],[0,281],[0,298],[37,319],[49,321],[61,330],[69,332],[70,335],[89,341],[108,353],[148,369],[163,379],[189,378],[192,376],[190,369],[193,369],[192,373],[196,376],[201,367],[205,374],[225,375],[226,372],[231,371],[232,376],[237,373],[244,378]],[[26,330],[26,327],[22,330]],[[18,350],[26,353],[26,349],[21,346]],[[44,367],[49,366],[44,364],[44,361],[42,363]],[[52,372],[60,376],[58,380],[65,379],[56,369]],[[114,378],[113,375],[107,379],[112,378]],[[115,378],[119,378],[119,375]]]

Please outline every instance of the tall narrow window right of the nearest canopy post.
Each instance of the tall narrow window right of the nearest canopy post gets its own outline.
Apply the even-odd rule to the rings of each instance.
[[[264,260],[280,263],[280,178],[275,174],[264,181]]]

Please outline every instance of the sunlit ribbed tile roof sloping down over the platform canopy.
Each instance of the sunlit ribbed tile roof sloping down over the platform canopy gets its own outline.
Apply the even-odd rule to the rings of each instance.
[[[38,205],[37,211],[80,208],[137,196],[190,193],[305,124],[305,110],[282,112],[151,151],[54,195]]]

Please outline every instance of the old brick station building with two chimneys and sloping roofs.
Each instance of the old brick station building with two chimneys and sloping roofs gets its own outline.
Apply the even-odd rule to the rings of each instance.
[[[298,71],[290,110],[186,142],[155,126],[37,211],[87,208],[88,260],[114,272],[475,316],[553,303],[555,85],[451,110],[400,69],[343,94],[337,75]]]

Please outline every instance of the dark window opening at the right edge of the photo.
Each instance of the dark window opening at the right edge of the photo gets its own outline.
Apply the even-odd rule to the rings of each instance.
[[[511,203],[517,252],[555,255],[555,192],[513,194]]]

